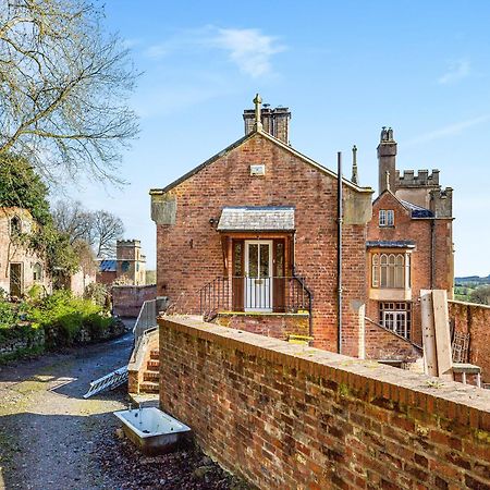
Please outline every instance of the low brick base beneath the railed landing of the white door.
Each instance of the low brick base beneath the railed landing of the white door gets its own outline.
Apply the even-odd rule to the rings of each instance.
[[[290,335],[308,335],[309,333],[309,316],[302,314],[219,314],[215,323],[281,340],[287,340]]]

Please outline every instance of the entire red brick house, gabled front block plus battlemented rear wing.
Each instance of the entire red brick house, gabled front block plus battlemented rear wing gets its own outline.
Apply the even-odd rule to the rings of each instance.
[[[340,281],[338,174],[290,146],[287,109],[255,102],[244,112],[244,137],[150,191],[157,295],[169,297],[172,313],[281,339],[310,335],[315,346],[352,356],[416,360],[421,352],[411,327],[419,290],[452,286],[452,259],[432,261],[432,269],[429,261],[452,250],[451,219],[439,209],[450,189],[444,197],[429,181],[421,191],[404,186],[409,172],[396,174],[396,143],[383,130],[379,172],[387,182],[391,170],[396,185],[381,186],[372,204],[373,191],[355,173],[342,179]],[[426,208],[427,195],[433,201]],[[418,216],[430,206],[439,215]],[[381,217],[391,224],[380,225]],[[385,256],[390,267],[394,258],[393,271]],[[396,327],[404,315],[405,330]]]

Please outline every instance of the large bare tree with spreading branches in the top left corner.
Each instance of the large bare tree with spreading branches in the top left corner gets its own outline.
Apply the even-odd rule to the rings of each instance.
[[[0,156],[47,177],[111,179],[137,133],[126,101],[135,72],[90,0],[0,3]]]

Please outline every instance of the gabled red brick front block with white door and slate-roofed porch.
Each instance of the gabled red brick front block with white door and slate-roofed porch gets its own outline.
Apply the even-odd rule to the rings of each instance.
[[[256,121],[256,113],[261,121]],[[289,145],[287,109],[245,111],[245,136],[152,189],[157,294],[176,313],[338,348],[338,175]],[[372,189],[343,179],[342,352],[363,355]]]

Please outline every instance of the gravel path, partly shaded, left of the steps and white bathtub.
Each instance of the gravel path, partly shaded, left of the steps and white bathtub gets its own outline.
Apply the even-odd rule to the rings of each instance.
[[[197,449],[145,458],[115,437],[126,389],[82,396],[127,363],[132,335],[0,367],[0,488],[244,488]]]

